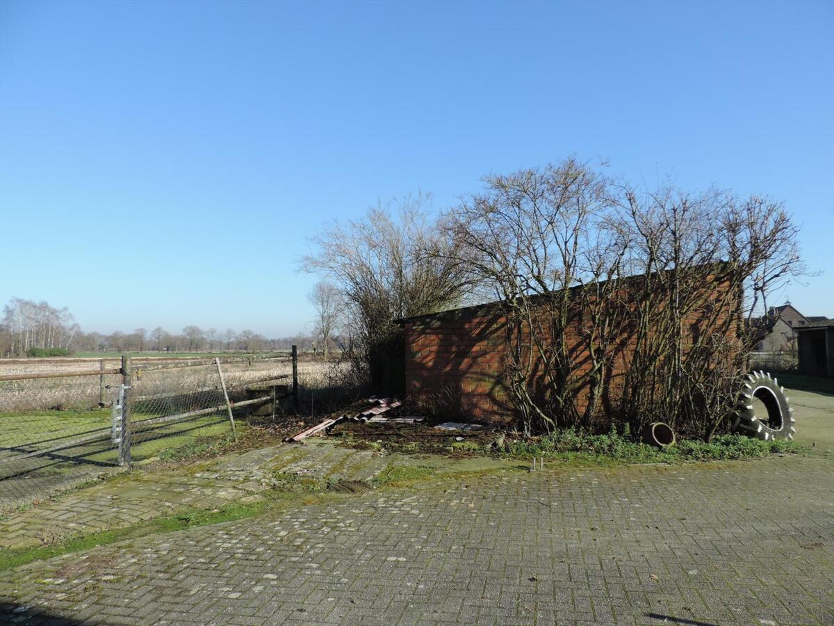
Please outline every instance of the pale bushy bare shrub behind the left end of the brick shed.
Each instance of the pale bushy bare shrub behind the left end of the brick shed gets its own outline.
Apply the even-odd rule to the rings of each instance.
[[[445,220],[445,219],[444,219]],[[324,274],[344,301],[343,348],[359,382],[402,391],[402,329],[394,320],[459,305],[467,272],[427,194],[369,209],[313,238],[304,269]]]

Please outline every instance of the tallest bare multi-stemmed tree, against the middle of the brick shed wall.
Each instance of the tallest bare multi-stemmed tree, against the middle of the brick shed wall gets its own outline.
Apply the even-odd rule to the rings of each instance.
[[[602,288],[603,277],[618,275],[626,245],[620,237],[600,248],[600,238],[589,235],[603,231],[609,219],[614,205],[609,183],[588,165],[567,159],[489,176],[485,186],[483,194],[455,210],[450,228],[460,244],[455,255],[471,272],[471,282],[498,298],[512,346],[506,372],[510,399],[525,432],[577,423],[576,391],[589,377],[604,376],[600,342],[610,332],[587,336],[594,367],[577,368],[566,337],[579,304],[570,288]],[[598,293],[593,301],[605,297]]]

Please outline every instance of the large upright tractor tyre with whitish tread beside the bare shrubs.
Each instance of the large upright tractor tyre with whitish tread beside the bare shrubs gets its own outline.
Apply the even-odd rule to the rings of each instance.
[[[766,415],[756,415],[753,400],[761,401]],[[747,374],[739,396],[736,430],[749,437],[768,441],[770,439],[793,439],[796,435],[793,409],[788,405],[785,388],[779,386],[776,378],[764,371]]]

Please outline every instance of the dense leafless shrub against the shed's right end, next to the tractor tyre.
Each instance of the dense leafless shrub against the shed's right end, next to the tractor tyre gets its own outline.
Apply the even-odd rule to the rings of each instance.
[[[633,427],[657,419],[707,440],[736,401],[767,295],[806,271],[783,205],[711,189],[624,190],[638,326],[619,397]],[[720,289],[714,289],[713,286]]]

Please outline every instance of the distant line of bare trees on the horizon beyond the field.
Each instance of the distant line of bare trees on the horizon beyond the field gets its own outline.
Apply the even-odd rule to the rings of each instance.
[[[332,335],[331,335],[332,341]],[[249,329],[203,330],[185,326],[169,332],[161,326],[148,331],[116,331],[108,335],[83,332],[64,307],[47,302],[13,298],[3,308],[0,321],[0,356],[61,356],[73,352],[263,352],[284,351],[298,346],[299,351],[317,351],[321,340],[315,335],[268,338]]]

